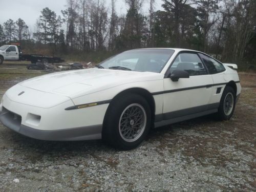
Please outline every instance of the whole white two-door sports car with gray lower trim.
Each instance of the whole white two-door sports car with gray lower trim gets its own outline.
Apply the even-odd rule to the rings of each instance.
[[[125,51],[93,69],[16,84],[2,98],[0,120],[36,139],[102,138],[129,150],[152,127],[212,113],[229,119],[241,93],[233,68],[193,50]]]

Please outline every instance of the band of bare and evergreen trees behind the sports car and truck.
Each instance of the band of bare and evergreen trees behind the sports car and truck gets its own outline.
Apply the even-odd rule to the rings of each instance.
[[[20,42],[25,52],[94,61],[127,49],[178,47],[256,68],[255,0],[163,0],[162,10],[155,0],[123,1],[122,14],[117,0],[67,0],[61,15],[46,5],[33,29],[22,18],[0,25],[0,44]]]

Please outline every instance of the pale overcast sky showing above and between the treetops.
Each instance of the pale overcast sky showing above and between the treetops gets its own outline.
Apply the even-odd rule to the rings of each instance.
[[[105,0],[106,5],[110,6],[111,0]],[[143,12],[147,12],[150,0],[145,0]],[[66,9],[66,0],[0,0],[0,24],[4,24],[9,18],[16,21],[22,18],[29,26],[30,30],[34,30],[36,19],[40,15],[40,11],[49,7],[57,15],[61,15],[61,10]],[[156,10],[161,9],[162,0],[156,0]],[[116,11],[118,15],[125,14],[127,7],[124,0],[116,1]]]

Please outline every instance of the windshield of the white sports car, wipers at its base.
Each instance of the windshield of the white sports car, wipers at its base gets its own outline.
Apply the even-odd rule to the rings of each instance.
[[[102,61],[98,68],[160,73],[173,53],[171,49],[130,50]]]

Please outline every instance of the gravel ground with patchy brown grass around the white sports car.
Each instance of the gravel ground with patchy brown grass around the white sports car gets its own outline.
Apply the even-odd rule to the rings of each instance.
[[[10,66],[0,67],[0,97],[44,73]],[[240,77],[231,120],[161,127],[132,151],[100,140],[39,141],[0,123],[0,191],[256,191],[256,74]]]

